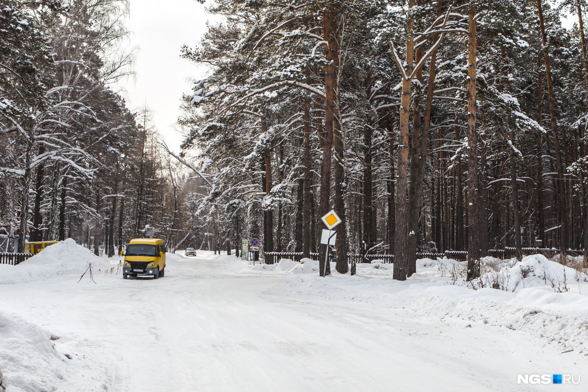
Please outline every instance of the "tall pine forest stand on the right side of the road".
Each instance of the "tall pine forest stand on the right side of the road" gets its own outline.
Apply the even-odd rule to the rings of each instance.
[[[334,208],[337,270],[368,249],[401,280],[417,252],[467,250],[473,279],[492,249],[588,249],[586,6],[213,2],[182,51],[211,69],[181,119],[201,208],[305,257]]]

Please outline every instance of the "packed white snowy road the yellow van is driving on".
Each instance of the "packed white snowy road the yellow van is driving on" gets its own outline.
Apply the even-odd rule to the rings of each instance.
[[[553,386],[517,384],[517,374],[586,374],[586,360],[522,331],[288,296],[272,290],[280,279],[227,272],[200,252],[170,260],[159,280],[0,284],[0,310],[86,361],[60,391],[104,390],[100,378],[124,392],[526,391]]]

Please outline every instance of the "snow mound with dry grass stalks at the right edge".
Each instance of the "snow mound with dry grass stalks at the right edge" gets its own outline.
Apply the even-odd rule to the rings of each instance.
[[[562,293],[569,290],[570,284],[585,278],[585,275],[573,268],[552,262],[542,254],[533,254],[516,262],[514,266],[505,266],[497,272],[483,274],[474,280],[472,285],[476,289],[492,287],[509,292],[540,286]]]

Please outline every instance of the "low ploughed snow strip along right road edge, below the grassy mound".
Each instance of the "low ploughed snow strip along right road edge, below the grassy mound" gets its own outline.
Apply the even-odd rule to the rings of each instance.
[[[356,276],[333,273],[327,278],[298,275],[284,277],[268,293],[369,303],[384,309],[406,309],[418,316],[463,320],[464,326],[487,324],[522,330],[562,351],[573,349],[588,356],[587,295],[554,293],[546,287],[527,287],[519,292],[472,290],[447,280],[417,277],[399,282],[388,277],[362,276],[359,271]],[[583,283],[581,291],[588,293],[588,284]]]

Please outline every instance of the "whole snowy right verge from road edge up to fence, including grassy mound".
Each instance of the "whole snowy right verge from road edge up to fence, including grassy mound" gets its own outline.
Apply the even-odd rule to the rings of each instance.
[[[318,262],[282,259],[268,265],[225,257],[226,267],[242,274],[285,274],[269,293],[315,296],[343,302],[368,302],[376,307],[406,309],[415,314],[452,317],[524,330],[547,339],[558,349],[588,356],[588,276],[536,254],[516,259],[483,260],[480,279],[465,282],[466,262],[417,260],[417,272],[404,282],[392,279],[393,264],[374,260],[356,264],[355,276],[319,277]],[[497,285],[496,285],[497,284]],[[492,288],[495,287],[495,288]],[[500,290],[496,290],[500,289]]]

